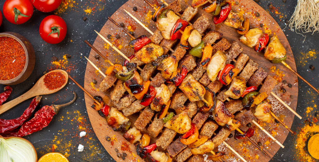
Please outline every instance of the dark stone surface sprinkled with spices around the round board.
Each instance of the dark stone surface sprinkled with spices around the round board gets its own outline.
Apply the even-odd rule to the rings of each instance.
[[[68,59],[67,67],[74,66],[74,68],[70,70],[69,74],[83,86],[86,67],[86,60],[84,56],[88,56],[88,53],[91,50],[90,47],[84,43],[84,40],[87,39],[89,42],[93,43],[96,38],[94,30],[100,31],[106,22],[107,17],[111,16],[125,2],[125,0],[101,0],[96,2],[93,0],[89,2],[85,0],[75,0],[74,2],[71,2],[73,3],[73,7],[68,7],[63,13],[58,14],[66,21],[68,32],[63,42],[56,45],[47,44],[39,35],[39,25],[41,20],[53,13],[42,13],[34,9],[32,18],[22,25],[13,25],[4,18],[3,24],[0,27],[0,32],[17,32],[23,35],[31,42],[36,53],[36,65],[33,73],[23,83],[12,86],[13,93],[9,97],[8,101],[22,95],[30,89],[43,75],[43,71],[52,67],[51,61],[53,56],[58,59],[62,59],[63,55],[66,53],[71,55],[71,58]],[[282,29],[286,27],[285,20],[291,17],[294,7],[297,4],[296,1],[292,0],[287,0],[286,3],[278,0],[259,1],[257,3],[276,19]],[[4,0],[1,1],[0,4],[3,6]],[[269,11],[269,4],[272,4],[273,7],[278,9],[278,12],[282,17],[280,17],[279,14],[275,14],[275,12]],[[85,13],[85,9],[93,7],[95,8],[95,11],[92,11],[90,14]],[[99,9],[102,8],[103,10],[99,11]],[[2,7],[0,10],[2,12]],[[84,16],[87,18],[85,21],[83,20]],[[317,66],[319,65],[319,58],[302,58],[300,53],[307,53],[311,50],[319,51],[319,34],[304,34],[307,36],[304,41],[304,37],[296,32],[288,30],[288,28],[284,29],[284,32],[294,53],[297,72],[313,86],[318,88]],[[83,55],[80,53],[83,53]],[[315,69],[309,70],[310,65],[314,65]],[[306,107],[319,104],[317,100],[318,94],[316,94],[315,91],[313,91],[300,79],[298,81],[299,97],[297,112],[304,117],[302,119],[303,121],[308,118],[304,115]],[[3,85],[0,85],[0,89],[3,89],[3,87]],[[73,84],[72,81],[69,81],[63,90],[55,94],[43,95],[40,106],[38,106],[36,110],[40,109],[40,107],[44,105],[50,105],[52,103],[61,104],[70,101],[73,98],[72,91],[77,92],[78,95],[78,99],[75,103],[61,109],[48,127],[39,132],[33,133],[32,135],[28,135],[25,138],[37,149],[38,158],[48,152],[51,152],[51,149],[54,148],[56,152],[61,152],[63,154],[67,152],[70,162],[114,161],[95,136],[86,113],[84,93],[75,84]],[[22,102],[15,108],[0,115],[0,118],[12,119],[20,116],[26,107],[28,107],[30,101],[31,99]],[[316,110],[314,108],[311,112],[313,113],[311,114],[312,116],[315,115],[315,111]],[[299,128],[303,125],[302,121],[295,117],[292,130],[298,133]],[[87,135],[80,138],[78,135],[80,131],[86,131]],[[295,139],[296,135],[289,134],[284,143],[286,146],[285,149],[280,148],[272,161],[296,161],[294,160],[294,153],[296,152],[294,150]],[[85,146],[85,150],[83,152],[77,151],[78,144]]]

